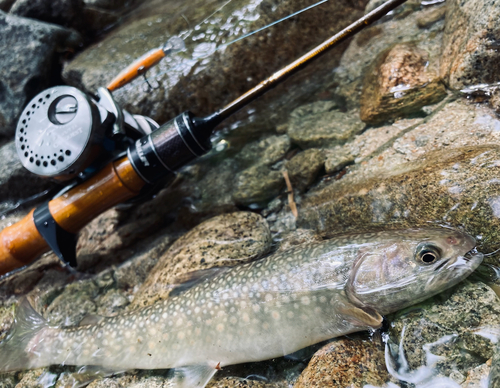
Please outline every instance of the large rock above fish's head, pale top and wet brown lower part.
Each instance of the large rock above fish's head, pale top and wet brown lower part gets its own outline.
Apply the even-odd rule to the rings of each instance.
[[[396,140],[379,145],[378,152],[353,165],[342,179],[308,192],[297,226],[328,232],[445,223],[477,236],[485,253],[495,250],[499,220],[494,209],[500,192],[494,166],[500,154],[495,146],[476,145],[496,143],[496,125],[483,108],[447,104]],[[425,145],[417,147],[416,140],[424,136],[428,139],[419,144]]]

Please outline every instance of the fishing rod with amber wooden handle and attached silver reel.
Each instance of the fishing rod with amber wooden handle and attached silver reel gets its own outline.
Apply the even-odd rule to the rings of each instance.
[[[105,88],[95,98],[70,86],[41,92],[21,114],[16,131],[16,148],[28,170],[64,181],[85,175],[95,155],[116,152],[111,148],[117,144],[126,151],[5,228],[0,233],[0,275],[50,249],[76,266],[75,235],[83,226],[151,185],[173,179],[176,171],[210,150],[210,136],[222,121],[405,1],[388,0],[206,117],[187,111],[158,126],[145,116],[120,110]],[[115,140],[112,145],[106,133]]]

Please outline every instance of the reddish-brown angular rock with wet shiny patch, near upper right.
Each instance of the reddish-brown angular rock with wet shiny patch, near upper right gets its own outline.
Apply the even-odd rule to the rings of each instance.
[[[380,124],[419,112],[446,96],[437,73],[429,67],[427,51],[413,44],[397,44],[375,60],[363,82],[360,117]]]

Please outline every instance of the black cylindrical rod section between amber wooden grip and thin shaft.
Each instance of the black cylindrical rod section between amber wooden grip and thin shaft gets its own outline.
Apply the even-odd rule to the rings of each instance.
[[[193,159],[210,150],[211,130],[201,130],[192,114],[184,112],[128,149],[135,171],[147,183],[175,174]]]

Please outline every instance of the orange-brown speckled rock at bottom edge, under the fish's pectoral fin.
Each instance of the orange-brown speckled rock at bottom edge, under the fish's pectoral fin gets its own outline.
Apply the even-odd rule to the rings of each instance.
[[[381,341],[340,338],[316,352],[294,388],[382,386],[389,378]]]

